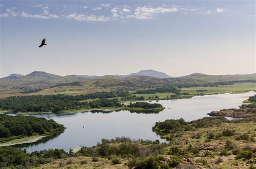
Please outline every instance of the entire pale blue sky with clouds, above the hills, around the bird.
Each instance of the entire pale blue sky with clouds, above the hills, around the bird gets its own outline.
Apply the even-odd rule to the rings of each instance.
[[[253,0],[0,0],[0,24],[0,78],[256,72]]]

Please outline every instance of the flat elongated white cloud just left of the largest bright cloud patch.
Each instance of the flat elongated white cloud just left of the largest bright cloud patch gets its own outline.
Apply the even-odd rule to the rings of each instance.
[[[75,20],[90,20],[90,21],[107,21],[110,20],[109,17],[105,16],[95,16],[95,15],[84,15],[82,13],[72,13],[68,17],[69,19],[75,19]]]

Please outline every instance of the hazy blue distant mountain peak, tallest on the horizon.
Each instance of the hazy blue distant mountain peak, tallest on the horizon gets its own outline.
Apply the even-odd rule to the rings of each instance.
[[[169,76],[163,72],[154,71],[152,69],[142,70],[137,73],[131,73],[129,75],[117,75],[117,76],[122,77],[122,78],[127,78],[127,77],[130,77],[133,75],[150,76],[153,78],[171,78],[171,76]]]

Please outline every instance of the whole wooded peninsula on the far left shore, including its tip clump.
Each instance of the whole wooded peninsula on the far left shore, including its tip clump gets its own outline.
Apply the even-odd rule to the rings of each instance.
[[[125,92],[119,93],[125,95]],[[88,95],[38,95],[19,96],[0,99],[0,109],[11,112],[63,112],[72,110],[88,110],[100,108],[115,108],[119,110],[163,110],[157,103],[137,102],[130,105],[120,103],[118,98],[111,98],[112,93],[95,93]],[[110,97],[110,98],[109,98]],[[91,101],[82,99],[97,98]],[[77,101],[77,100],[78,101]]]

